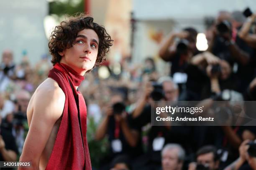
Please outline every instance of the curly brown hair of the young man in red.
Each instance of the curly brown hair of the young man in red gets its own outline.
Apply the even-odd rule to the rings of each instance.
[[[74,16],[69,17],[69,20],[62,21],[60,25],[56,26],[51,32],[48,46],[52,55],[51,62],[53,65],[61,60],[59,52],[71,48],[75,44],[77,33],[84,29],[94,30],[100,41],[97,59],[93,68],[100,66],[100,64],[106,60],[106,55],[110,50],[110,46],[113,45],[113,40],[111,40],[110,35],[106,32],[103,26],[94,23],[92,17],[85,15],[84,13],[77,13]],[[90,72],[91,70],[87,72]]]

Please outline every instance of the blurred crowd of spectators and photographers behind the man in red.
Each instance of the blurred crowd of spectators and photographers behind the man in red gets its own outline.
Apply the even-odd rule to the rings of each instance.
[[[170,32],[159,48],[159,57],[171,65],[169,75],[159,76],[151,57],[137,66],[124,58],[120,74],[106,61],[105,79],[98,67],[85,75],[79,91],[88,127],[95,125],[87,133],[95,170],[256,169],[255,126],[151,126],[154,101],[256,99],[256,15],[249,12],[220,11],[211,22],[208,18],[204,52],[196,48],[195,28]],[[32,67],[26,51],[18,64],[11,50],[2,53],[0,161],[18,160],[22,152],[28,102],[48,77],[50,60],[43,55]],[[223,97],[226,90],[229,99]],[[97,142],[105,150],[93,148]]]

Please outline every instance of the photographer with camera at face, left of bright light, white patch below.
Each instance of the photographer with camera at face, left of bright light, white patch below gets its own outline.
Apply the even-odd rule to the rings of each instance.
[[[179,42],[175,44],[175,39]],[[159,56],[172,63],[170,75],[174,82],[179,83],[179,90],[182,91],[182,84],[186,82],[187,75],[184,73],[188,60],[199,53],[196,48],[197,31],[194,28],[185,28],[182,32],[171,32],[161,43]]]

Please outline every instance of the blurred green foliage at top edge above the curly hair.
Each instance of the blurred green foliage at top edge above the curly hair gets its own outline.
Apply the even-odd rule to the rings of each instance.
[[[56,14],[59,17],[68,14],[84,12],[84,0],[54,0],[49,2],[49,14]]]

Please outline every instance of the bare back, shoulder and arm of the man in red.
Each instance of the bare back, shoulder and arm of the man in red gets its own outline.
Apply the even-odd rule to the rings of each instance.
[[[47,78],[38,86],[28,104],[29,131],[21,160],[30,160],[32,164],[34,162],[40,170],[46,168],[59,130],[64,103],[64,92],[55,80]],[[40,134],[41,136],[39,136]],[[33,138],[36,136],[41,138],[40,143],[33,142]],[[38,147],[38,149],[34,147]],[[36,155],[35,160],[31,160],[33,157],[28,155],[31,148],[34,149],[32,152]]]

